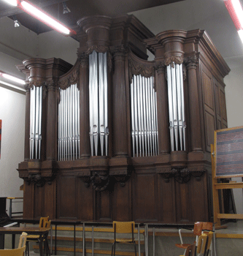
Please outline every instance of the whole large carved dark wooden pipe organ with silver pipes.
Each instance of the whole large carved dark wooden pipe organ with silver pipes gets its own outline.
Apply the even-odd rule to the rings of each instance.
[[[18,66],[27,79],[24,217],[208,221],[210,143],[227,127],[229,72],[211,39],[199,29],[155,36],[133,15],[77,24],[73,67]]]

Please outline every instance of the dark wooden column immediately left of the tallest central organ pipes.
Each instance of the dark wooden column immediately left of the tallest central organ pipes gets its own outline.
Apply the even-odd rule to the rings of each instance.
[[[90,157],[88,56],[80,56],[80,157]]]

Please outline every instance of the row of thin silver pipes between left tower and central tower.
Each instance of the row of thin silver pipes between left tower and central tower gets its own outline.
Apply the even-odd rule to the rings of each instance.
[[[80,157],[80,94],[77,84],[60,89],[58,105],[58,160],[74,160]]]

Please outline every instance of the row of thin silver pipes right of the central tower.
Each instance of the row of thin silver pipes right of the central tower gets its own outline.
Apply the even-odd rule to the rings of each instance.
[[[153,77],[131,81],[131,138],[134,157],[158,155],[156,91]]]

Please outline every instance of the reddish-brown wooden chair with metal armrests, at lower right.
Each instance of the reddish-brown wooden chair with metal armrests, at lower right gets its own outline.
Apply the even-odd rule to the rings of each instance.
[[[175,246],[177,246],[178,248],[185,249],[185,252],[186,252],[186,249],[188,248],[188,246],[190,244],[183,243],[181,230],[182,229],[179,230],[179,236],[180,236],[181,243],[175,244]],[[193,234],[196,236],[196,241],[195,241],[196,247],[198,246],[198,238],[199,238],[199,236],[201,236],[202,230],[212,230],[212,222],[195,222],[194,227],[193,227]],[[185,255],[185,252],[184,252],[184,255]]]

